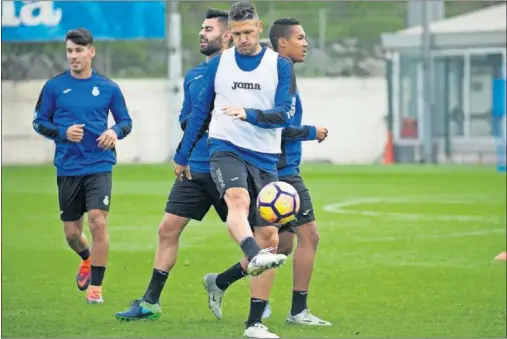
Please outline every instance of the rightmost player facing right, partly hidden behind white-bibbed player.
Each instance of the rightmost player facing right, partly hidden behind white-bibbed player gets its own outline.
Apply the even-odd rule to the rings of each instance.
[[[296,19],[278,19],[270,29],[270,40],[275,51],[280,55],[290,58],[293,62],[304,62],[308,43],[303,27]],[[301,141],[326,139],[328,131],[324,127],[302,126],[303,110],[299,93],[296,101],[296,114],[291,128],[285,128],[282,134],[283,154],[278,162],[278,176],[280,181],[291,184],[301,199],[300,212],[296,220],[284,225],[280,229],[278,252],[289,255],[292,252],[294,233],[297,235],[298,245],[293,260],[293,292],[292,308],[286,322],[301,325],[324,325],[331,323],[310,314],[307,307],[308,289],[315,262],[315,253],[319,242],[317,224],[313,211],[312,200],[303,179],[299,175],[301,163]],[[221,317],[222,298],[225,290],[235,281],[242,278],[240,272],[244,270],[246,263],[240,262],[220,274],[206,275],[208,280],[214,280],[215,284],[209,284],[208,288],[209,308],[215,316]],[[216,288],[219,287],[219,289]],[[263,315],[270,315],[269,304]]]

